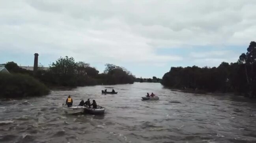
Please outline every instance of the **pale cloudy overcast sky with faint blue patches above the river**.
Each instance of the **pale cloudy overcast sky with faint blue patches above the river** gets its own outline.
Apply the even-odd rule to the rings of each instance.
[[[256,0],[0,0],[0,63],[60,56],[162,78],[236,62],[256,38]]]

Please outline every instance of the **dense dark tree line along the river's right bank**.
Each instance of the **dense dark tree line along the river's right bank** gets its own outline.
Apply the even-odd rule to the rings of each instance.
[[[235,63],[222,62],[218,67],[171,67],[161,83],[166,87],[198,89],[209,92],[237,92],[256,96],[256,42]]]

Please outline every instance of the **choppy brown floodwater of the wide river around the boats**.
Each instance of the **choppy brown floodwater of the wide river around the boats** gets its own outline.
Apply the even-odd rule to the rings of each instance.
[[[118,94],[101,94],[105,87],[114,87]],[[160,100],[142,101],[147,92]],[[105,114],[65,114],[67,95],[73,105],[94,99],[106,107]],[[171,91],[159,83],[54,90],[42,97],[1,100],[0,142],[255,143],[256,103],[230,95]]]

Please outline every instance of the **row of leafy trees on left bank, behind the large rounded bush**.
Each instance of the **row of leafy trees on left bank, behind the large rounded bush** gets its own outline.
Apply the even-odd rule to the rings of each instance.
[[[91,67],[89,63],[75,62],[73,57],[60,57],[49,65],[49,70],[38,67],[37,72],[19,68],[14,62],[8,62],[5,67],[11,73],[25,73],[38,79],[48,87],[64,86],[76,87],[101,84],[133,83],[135,76],[124,67],[107,63],[104,73]]]

